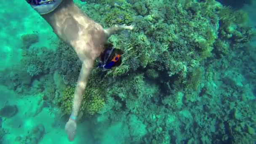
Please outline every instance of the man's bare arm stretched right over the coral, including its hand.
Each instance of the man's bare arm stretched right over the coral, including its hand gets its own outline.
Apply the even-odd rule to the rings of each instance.
[[[125,26],[125,25],[116,25],[115,27],[109,27],[107,29],[104,29],[106,38],[108,39],[111,35],[114,35],[118,32],[121,32],[123,30],[133,30],[133,26]]]

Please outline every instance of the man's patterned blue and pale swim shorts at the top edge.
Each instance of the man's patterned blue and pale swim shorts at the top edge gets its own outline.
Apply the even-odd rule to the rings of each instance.
[[[26,0],[38,13],[46,14],[54,11],[62,0]]]

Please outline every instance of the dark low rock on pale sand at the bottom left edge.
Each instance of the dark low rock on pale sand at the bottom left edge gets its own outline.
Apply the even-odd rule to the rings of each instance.
[[[31,131],[28,131],[27,136],[17,136],[15,141],[18,141],[20,144],[38,144],[44,135],[45,127],[37,125]]]

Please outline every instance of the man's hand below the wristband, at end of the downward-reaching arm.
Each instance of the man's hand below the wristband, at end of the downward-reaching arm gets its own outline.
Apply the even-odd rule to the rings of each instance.
[[[74,141],[76,129],[77,123],[75,122],[75,120],[69,119],[69,121],[65,125],[65,130],[68,135],[69,141]]]

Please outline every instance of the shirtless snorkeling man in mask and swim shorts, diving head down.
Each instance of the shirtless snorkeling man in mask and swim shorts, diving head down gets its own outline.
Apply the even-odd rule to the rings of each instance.
[[[65,125],[69,141],[73,141],[77,129],[76,118],[80,109],[82,95],[87,85],[88,77],[93,69],[94,61],[101,59],[104,69],[118,66],[121,62],[120,52],[115,49],[104,49],[107,39],[117,32],[133,26],[115,26],[108,29],[90,19],[80,10],[73,0],[26,0],[51,25],[58,37],[71,45],[82,61],[82,69],[77,80],[72,113]],[[84,0],[83,0],[84,1]],[[105,53],[104,53],[105,52]],[[107,54],[106,54],[107,52]],[[112,55],[112,56],[111,56]],[[105,56],[112,58],[105,61]]]

